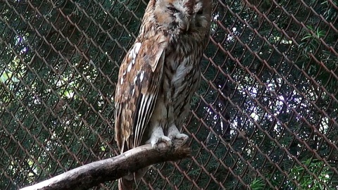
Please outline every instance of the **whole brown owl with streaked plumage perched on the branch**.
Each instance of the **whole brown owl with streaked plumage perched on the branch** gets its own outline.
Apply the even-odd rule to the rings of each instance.
[[[208,42],[211,0],[150,0],[139,36],[120,66],[115,92],[115,141],[123,153],[150,143],[157,148],[180,133],[189,101],[201,77],[201,58]],[[128,189],[135,177],[119,180]],[[130,188],[130,187],[129,187]]]

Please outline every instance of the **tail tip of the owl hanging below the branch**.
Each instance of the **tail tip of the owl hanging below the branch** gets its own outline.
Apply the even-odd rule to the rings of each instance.
[[[144,167],[131,175],[118,179],[118,190],[132,190],[132,184],[144,177],[146,172],[149,170],[149,167]]]

